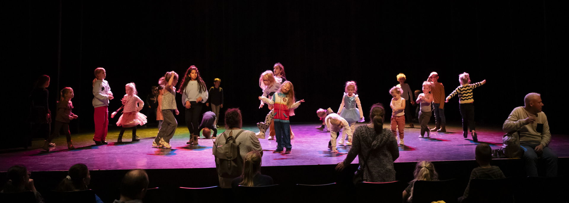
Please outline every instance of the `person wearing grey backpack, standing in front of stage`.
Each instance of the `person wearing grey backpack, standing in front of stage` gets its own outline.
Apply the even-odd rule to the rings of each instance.
[[[225,111],[225,132],[213,142],[217,177],[221,188],[231,188],[231,181],[243,174],[245,156],[250,151],[263,154],[259,138],[249,130],[242,130],[241,110],[230,108]]]

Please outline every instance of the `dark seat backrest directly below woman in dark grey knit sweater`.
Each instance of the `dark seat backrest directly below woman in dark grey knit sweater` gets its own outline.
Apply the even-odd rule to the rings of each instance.
[[[374,202],[401,202],[399,181],[387,183],[361,182],[356,185],[357,197]],[[381,198],[379,198],[381,197]]]

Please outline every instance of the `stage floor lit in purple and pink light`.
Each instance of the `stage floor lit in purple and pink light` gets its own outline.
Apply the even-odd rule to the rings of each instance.
[[[339,145],[339,153],[328,149],[329,132],[315,129],[318,123],[292,124],[295,138],[291,140],[291,154],[274,154],[275,140],[260,139],[265,166],[299,166],[336,164],[344,160],[351,146]],[[417,126],[417,125],[415,125]],[[389,125],[384,127],[389,128]],[[256,132],[256,126],[246,125],[243,129]],[[431,138],[418,138],[419,128],[405,128],[405,145],[399,146],[399,158],[395,162],[416,162],[417,160],[472,160],[477,143],[488,143],[492,149],[501,146],[504,133],[500,128],[479,127],[478,140],[463,138],[460,125],[447,126],[446,133],[431,133]],[[0,171],[10,166],[23,164],[30,171],[68,170],[74,163],[85,163],[90,170],[128,170],[133,168],[213,168],[213,139],[199,139],[199,145],[186,145],[188,129],[178,126],[171,140],[172,149],[152,148],[157,128],[139,128],[140,142],[130,142],[130,131],[125,132],[123,142],[117,143],[118,129],[110,129],[109,145],[94,145],[92,133],[72,134],[74,150],[67,150],[65,137],[53,140],[57,146],[47,152],[40,149],[43,141],[34,140],[28,149],[1,150]],[[218,129],[218,133],[224,128]],[[268,137],[268,136],[267,136]],[[339,138],[340,139],[340,138]],[[569,136],[552,135],[551,149],[559,157],[569,157]],[[353,163],[357,163],[357,159]]]

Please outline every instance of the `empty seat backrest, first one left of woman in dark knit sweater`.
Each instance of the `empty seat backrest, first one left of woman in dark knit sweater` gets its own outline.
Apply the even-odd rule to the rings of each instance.
[[[303,200],[306,202],[329,202],[336,201],[337,196],[330,195],[331,191],[336,191],[338,185],[336,183],[329,183],[323,185],[294,185],[293,200]]]

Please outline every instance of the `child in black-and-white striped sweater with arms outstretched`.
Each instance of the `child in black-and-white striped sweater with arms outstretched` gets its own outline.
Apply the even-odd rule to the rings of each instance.
[[[470,75],[468,73],[463,73],[459,75],[460,86],[456,87],[455,91],[452,91],[450,95],[444,102],[448,102],[455,95],[459,95],[459,108],[460,115],[463,119],[463,137],[468,137],[468,128],[472,132],[472,140],[478,142],[478,135],[476,134],[476,125],[474,121],[474,88],[480,87],[486,84],[486,80],[482,82],[477,82],[470,84]]]

